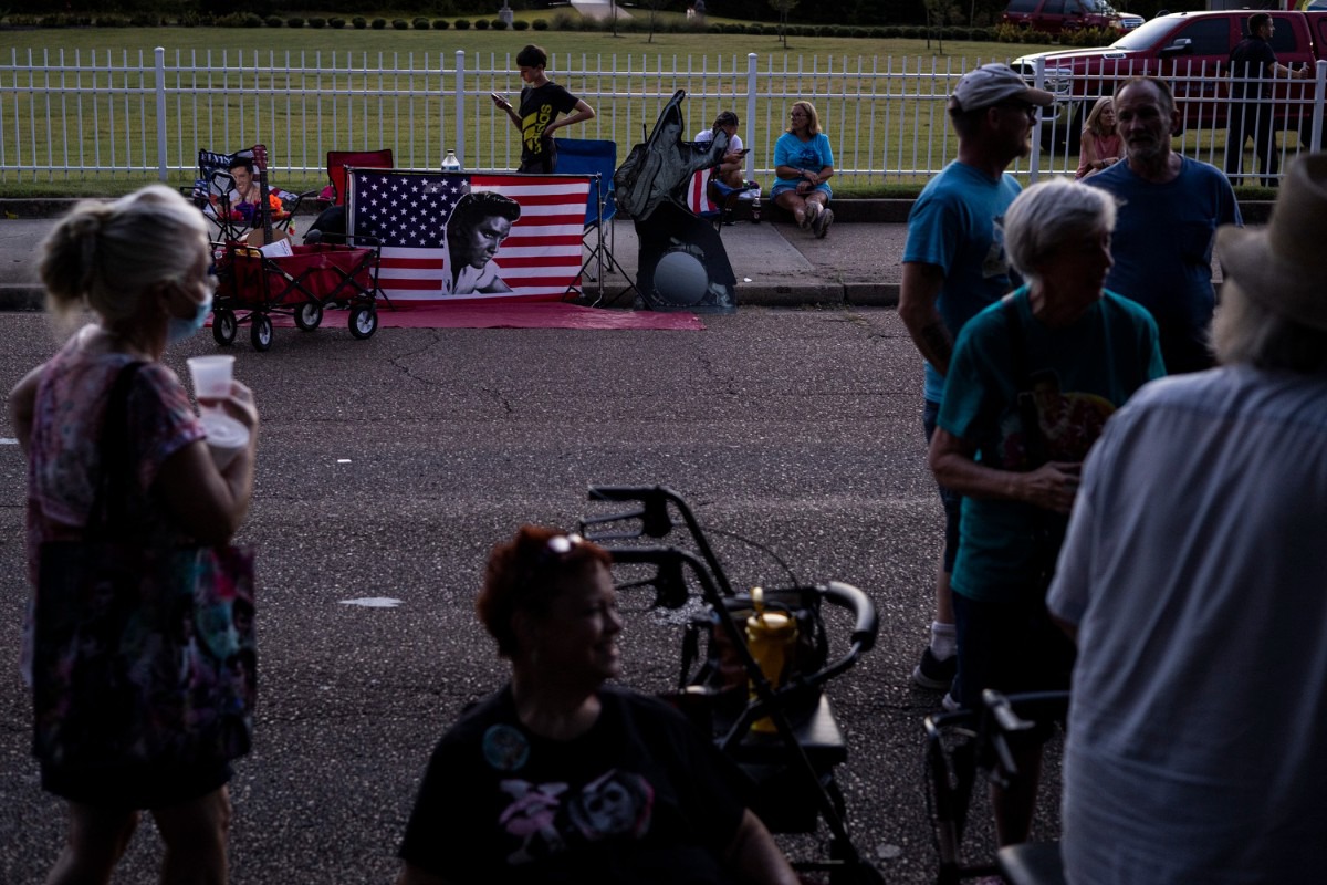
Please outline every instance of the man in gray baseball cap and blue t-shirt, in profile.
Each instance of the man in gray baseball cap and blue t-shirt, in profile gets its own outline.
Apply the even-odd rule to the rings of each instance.
[[[936,175],[908,216],[898,317],[926,361],[922,425],[936,429],[945,373],[954,340],[967,320],[1014,287],[1001,218],[1020,190],[1005,172],[1027,157],[1038,107],[1052,103],[1009,65],[982,65],[958,81],[949,117],[958,135],[958,159]],[[930,644],[913,682],[933,691],[950,689],[955,673],[954,610],[949,577],[958,552],[959,496],[943,487],[945,551],[936,571],[936,620]],[[946,706],[953,706],[951,693]]]

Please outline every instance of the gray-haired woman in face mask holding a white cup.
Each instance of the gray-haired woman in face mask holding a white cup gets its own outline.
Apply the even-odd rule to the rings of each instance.
[[[133,362],[142,364],[125,402],[134,480],[123,495],[145,545],[224,544],[244,519],[257,437],[248,387],[234,383],[227,399],[208,401],[249,433],[248,446],[218,470],[188,394],[161,364],[169,344],[198,332],[207,318],[210,264],[202,214],[159,184],[109,204],[80,203],[42,244],[49,309],[69,321],[90,308],[96,321],[9,395],[15,433],[28,456],[33,586],[42,544],[85,539],[104,471],[98,441],[109,390]],[[25,670],[33,661],[35,620],[29,616],[24,630]],[[109,667],[110,658],[100,655],[88,666],[105,661]],[[151,716],[150,710],[138,713]],[[89,768],[44,758],[42,787],[69,803],[68,841],[48,885],[109,881],[143,808],[151,809],[166,843],[162,882],[224,882],[230,775],[224,763]]]

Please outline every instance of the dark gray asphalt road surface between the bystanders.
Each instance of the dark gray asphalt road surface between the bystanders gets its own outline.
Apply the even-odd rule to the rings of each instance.
[[[705,332],[385,329],[361,342],[329,320],[314,333],[279,329],[265,354],[235,348],[263,415],[238,539],[259,551],[260,715],[232,782],[236,885],[391,881],[433,743],[506,671],[471,609],[484,555],[522,521],[571,525],[594,510],[591,483],[671,486],[703,524],[766,544],[802,579],[872,596],[880,642],[828,690],[851,744],[837,776],[856,843],[886,881],[933,878],[921,722],[937,697],[908,682],[941,545],[920,357],[882,308],[743,308],[705,321]],[[0,389],[54,341],[41,314],[0,314]],[[184,357],[214,350],[204,333],[167,362],[184,375]],[[28,755],[17,675],[24,471],[17,446],[0,444],[0,882],[15,884],[41,880],[64,832]],[[736,585],[780,580],[771,559],[714,540]],[[344,605],[361,597],[401,605]],[[679,649],[667,630],[632,610],[628,683],[667,687]],[[1054,804],[1040,835],[1054,833]],[[979,854],[989,835],[977,829]],[[145,821],[114,881],[155,881],[159,857]]]

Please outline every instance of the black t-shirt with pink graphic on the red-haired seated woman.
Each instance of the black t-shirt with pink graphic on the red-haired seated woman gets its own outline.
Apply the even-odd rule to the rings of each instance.
[[[661,701],[600,691],[573,740],[525,730],[506,687],[438,743],[401,857],[449,882],[731,881],[740,775]]]

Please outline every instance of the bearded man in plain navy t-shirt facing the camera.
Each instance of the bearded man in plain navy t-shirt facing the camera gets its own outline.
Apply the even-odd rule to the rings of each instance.
[[[1170,149],[1180,110],[1164,80],[1136,77],[1115,92],[1125,162],[1083,179],[1120,203],[1105,288],[1137,301],[1161,332],[1166,372],[1213,365],[1212,243],[1221,224],[1243,224],[1220,169]]]

